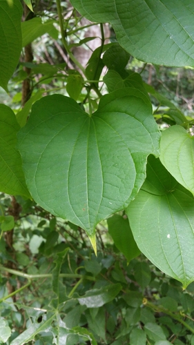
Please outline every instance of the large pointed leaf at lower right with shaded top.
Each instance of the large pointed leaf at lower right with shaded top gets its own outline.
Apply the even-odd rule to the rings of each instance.
[[[130,226],[142,253],[184,288],[194,280],[193,210],[193,195],[148,157],[147,179],[127,208]]]

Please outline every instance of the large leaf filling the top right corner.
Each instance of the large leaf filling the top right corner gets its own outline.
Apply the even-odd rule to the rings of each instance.
[[[194,3],[182,0],[71,0],[90,21],[112,24],[119,44],[139,60],[194,66]]]

